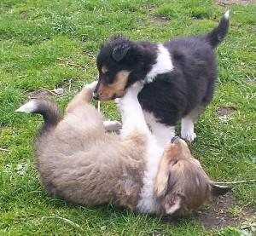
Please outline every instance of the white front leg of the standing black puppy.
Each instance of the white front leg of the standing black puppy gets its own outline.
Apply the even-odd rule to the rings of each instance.
[[[166,144],[175,136],[175,127],[161,124],[157,121],[152,112],[143,111],[143,113],[160,147],[166,147]]]

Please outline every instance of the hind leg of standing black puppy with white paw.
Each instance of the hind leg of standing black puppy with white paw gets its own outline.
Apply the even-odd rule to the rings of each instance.
[[[194,141],[196,138],[194,126],[196,119],[200,116],[202,112],[206,109],[207,104],[201,103],[201,105],[196,106],[189,114],[182,118],[181,121],[181,136],[187,141]]]

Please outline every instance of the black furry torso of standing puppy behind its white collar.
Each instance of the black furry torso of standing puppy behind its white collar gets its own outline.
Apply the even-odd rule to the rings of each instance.
[[[212,100],[217,68],[212,47],[200,37],[176,38],[164,45],[174,69],[145,84],[138,98],[144,110],[172,126],[195,106]]]

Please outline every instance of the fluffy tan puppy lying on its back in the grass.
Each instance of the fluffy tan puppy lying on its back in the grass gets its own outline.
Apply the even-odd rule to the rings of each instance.
[[[73,98],[63,119],[57,106],[44,100],[17,110],[44,117],[35,164],[50,194],[88,206],[113,203],[180,216],[229,190],[208,178],[183,140],[173,138],[165,150],[157,145],[137,100],[140,83],[119,100],[120,135],[107,133],[101,113],[89,104],[95,86],[86,85]]]

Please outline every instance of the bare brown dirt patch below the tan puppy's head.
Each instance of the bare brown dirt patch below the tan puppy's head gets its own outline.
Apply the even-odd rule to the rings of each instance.
[[[238,227],[242,222],[256,220],[256,211],[243,208],[239,214],[231,214],[230,209],[235,205],[234,199],[226,195],[221,201],[213,202],[206,210],[199,211],[195,218],[206,229],[219,229],[222,227]]]

